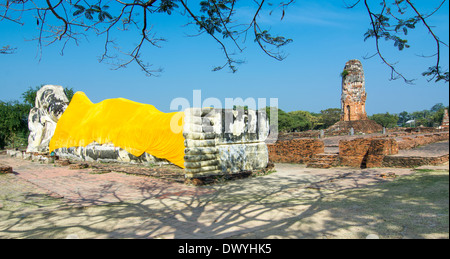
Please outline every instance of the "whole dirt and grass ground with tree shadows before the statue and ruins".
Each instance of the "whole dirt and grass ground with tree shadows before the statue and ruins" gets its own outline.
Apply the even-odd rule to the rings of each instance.
[[[0,155],[0,238],[449,238],[448,164],[418,169],[276,164],[189,186]]]

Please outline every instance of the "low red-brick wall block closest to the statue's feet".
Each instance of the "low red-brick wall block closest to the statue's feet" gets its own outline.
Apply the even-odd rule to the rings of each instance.
[[[274,163],[304,164],[309,162],[313,155],[325,152],[324,143],[319,139],[282,140],[267,147],[269,161]]]

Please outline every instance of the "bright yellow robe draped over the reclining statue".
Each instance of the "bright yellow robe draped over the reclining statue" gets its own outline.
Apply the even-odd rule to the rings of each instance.
[[[94,104],[77,92],[56,125],[50,153],[95,141],[111,143],[137,157],[146,152],[184,168],[183,123],[184,112],[164,113],[123,98]]]

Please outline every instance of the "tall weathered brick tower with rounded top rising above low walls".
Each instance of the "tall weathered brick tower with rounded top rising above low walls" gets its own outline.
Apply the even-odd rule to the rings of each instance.
[[[366,98],[362,64],[350,60],[342,72],[341,121],[367,120]]]

